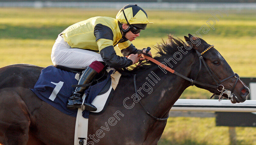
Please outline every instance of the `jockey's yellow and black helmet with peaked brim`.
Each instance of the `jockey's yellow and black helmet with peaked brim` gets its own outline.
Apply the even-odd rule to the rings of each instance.
[[[116,15],[120,23],[127,23],[139,29],[144,30],[147,24],[153,24],[148,21],[147,13],[138,5],[126,5]]]

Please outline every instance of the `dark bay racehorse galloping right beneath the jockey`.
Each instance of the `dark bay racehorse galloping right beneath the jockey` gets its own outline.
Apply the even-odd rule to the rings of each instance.
[[[169,36],[166,43],[156,46],[158,54],[154,58],[181,75],[200,82],[195,83],[199,88],[219,95],[220,91],[216,90],[221,90],[222,85],[232,92],[229,96],[224,94],[232,103],[244,102],[249,89],[234,75],[219,52],[214,47],[205,52],[210,44],[190,34],[189,37],[185,36],[185,40],[186,43]],[[197,51],[204,52],[201,58]],[[1,144],[74,143],[76,118],[53,108],[29,89],[37,82],[41,69],[27,64],[0,69]],[[191,81],[165,71],[152,62],[121,73],[123,75],[106,111],[101,115],[89,116],[87,144],[157,144],[167,121],[159,121],[152,116],[166,118]],[[137,94],[133,83],[135,73]],[[219,86],[216,86],[216,80]],[[146,113],[139,100],[152,116]]]

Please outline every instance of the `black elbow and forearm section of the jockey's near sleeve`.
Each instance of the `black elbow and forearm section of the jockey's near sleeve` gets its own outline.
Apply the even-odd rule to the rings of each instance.
[[[116,55],[116,51],[113,46],[108,46],[103,48],[100,51],[102,60],[112,68],[126,68],[133,64],[133,61],[126,58]]]

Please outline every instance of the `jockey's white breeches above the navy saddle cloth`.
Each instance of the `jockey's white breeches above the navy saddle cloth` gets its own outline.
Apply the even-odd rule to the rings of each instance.
[[[53,65],[62,65],[74,69],[82,69],[94,61],[103,62],[101,55],[94,51],[71,48],[59,35],[52,47]]]

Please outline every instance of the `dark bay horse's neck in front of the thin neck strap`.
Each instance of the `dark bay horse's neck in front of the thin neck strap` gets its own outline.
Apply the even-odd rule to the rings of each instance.
[[[191,72],[191,66],[194,63],[195,55],[189,54],[180,60],[174,70],[183,76],[189,76]],[[148,93],[144,99],[142,99],[143,104],[146,108],[150,108],[150,112],[159,118],[166,117],[172,105],[178,100],[183,91],[190,86],[190,82],[176,76],[170,72],[165,74],[160,68],[155,68],[148,71],[149,74],[155,73],[155,81],[152,81],[154,86],[152,86],[152,93]],[[153,75],[152,75],[153,76]],[[153,78],[152,78],[153,80]],[[150,82],[150,81],[148,81]],[[148,83],[150,85],[150,83]]]

